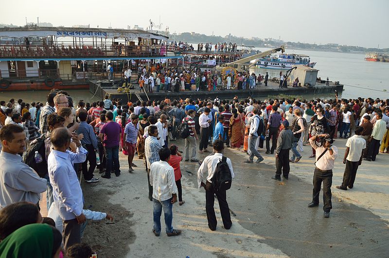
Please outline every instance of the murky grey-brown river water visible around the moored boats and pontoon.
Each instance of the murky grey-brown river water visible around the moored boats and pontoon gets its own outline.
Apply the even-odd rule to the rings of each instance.
[[[268,48],[255,49],[261,51],[268,50]],[[311,57],[311,62],[317,62],[315,68],[319,70],[318,77],[321,77],[324,80],[328,76],[330,81],[339,81],[341,84],[346,84],[343,93],[339,93],[341,97],[389,98],[389,63],[365,61],[365,55],[362,53],[337,53],[291,49],[287,49],[286,53],[309,55]],[[255,68],[254,70],[256,74],[262,75],[267,71],[270,77],[276,77],[280,73],[280,70],[276,69]],[[79,100],[84,100],[86,102],[99,100],[96,97],[92,99],[93,94],[88,90],[68,90],[68,92],[71,97],[73,97],[75,104]],[[8,101],[10,98],[21,98],[25,102],[45,102],[47,94],[48,91],[0,92],[0,100]],[[304,95],[304,97],[333,97],[333,94],[320,96]]]

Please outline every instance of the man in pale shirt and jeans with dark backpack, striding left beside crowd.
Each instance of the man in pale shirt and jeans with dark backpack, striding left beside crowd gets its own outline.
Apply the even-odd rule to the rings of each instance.
[[[260,136],[264,130],[264,122],[258,115],[258,109],[253,108],[252,113],[254,114],[252,117],[250,117],[250,131],[248,133],[248,137],[250,138],[250,157],[247,161],[244,161],[245,163],[252,163],[254,156],[258,158],[258,160],[255,161],[255,163],[259,163],[264,160],[264,158],[259,154],[257,150],[257,145],[255,144],[257,142],[258,136]]]

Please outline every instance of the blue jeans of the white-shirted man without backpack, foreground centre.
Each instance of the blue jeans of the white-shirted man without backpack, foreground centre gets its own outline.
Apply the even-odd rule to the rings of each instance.
[[[173,232],[173,204],[170,202],[172,198],[166,200],[166,201],[159,201],[155,198],[153,198],[153,217],[154,217],[154,229],[156,233],[161,232],[161,214],[162,214],[162,208],[163,213],[165,214],[165,226],[166,226],[166,233],[172,233]]]

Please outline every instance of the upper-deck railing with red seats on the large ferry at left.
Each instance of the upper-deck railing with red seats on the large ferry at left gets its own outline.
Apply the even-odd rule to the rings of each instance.
[[[154,57],[165,56],[167,52],[173,52],[175,55],[181,54],[179,49],[167,48],[163,45],[9,45],[0,43],[0,58],[4,57],[45,57],[45,58],[60,58],[60,57]]]

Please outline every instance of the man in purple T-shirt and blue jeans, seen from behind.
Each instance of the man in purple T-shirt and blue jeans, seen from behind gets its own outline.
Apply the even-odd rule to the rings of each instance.
[[[120,176],[119,164],[119,140],[122,133],[120,125],[113,121],[113,113],[106,113],[108,122],[100,129],[99,139],[104,145],[106,152],[106,174],[103,178],[111,178],[111,171],[116,177]]]

